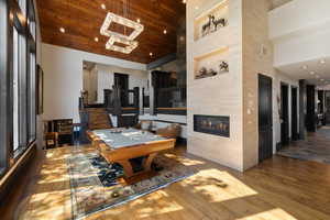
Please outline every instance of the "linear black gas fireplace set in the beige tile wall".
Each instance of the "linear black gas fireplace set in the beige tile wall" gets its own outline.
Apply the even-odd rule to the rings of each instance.
[[[194,131],[229,138],[230,118],[195,114]]]

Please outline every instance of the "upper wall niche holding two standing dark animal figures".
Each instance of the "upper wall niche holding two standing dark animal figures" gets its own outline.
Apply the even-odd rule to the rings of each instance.
[[[229,24],[228,0],[223,0],[202,12],[194,21],[194,40],[215,33]]]

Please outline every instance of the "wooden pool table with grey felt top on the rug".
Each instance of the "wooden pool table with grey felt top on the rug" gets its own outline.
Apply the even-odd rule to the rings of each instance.
[[[173,148],[175,139],[166,139],[147,131],[136,129],[105,129],[87,131],[100,155],[108,163],[119,163],[123,167],[125,183],[148,178],[154,157],[162,151]],[[134,172],[132,160],[143,157],[142,170]]]

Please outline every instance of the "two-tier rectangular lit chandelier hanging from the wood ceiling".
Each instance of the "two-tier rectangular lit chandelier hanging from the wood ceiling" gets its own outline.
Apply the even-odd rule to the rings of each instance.
[[[106,48],[114,52],[130,54],[139,46],[139,42],[134,41],[141,32],[144,30],[144,25],[128,19],[128,0],[123,0],[123,16],[108,12],[105,22],[100,29],[100,33],[105,36],[109,36],[109,41],[106,44]],[[110,31],[111,23],[120,24],[124,28],[123,34],[116,31]],[[131,34],[127,34],[127,28],[132,29]],[[120,45],[116,45],[119,43]]]

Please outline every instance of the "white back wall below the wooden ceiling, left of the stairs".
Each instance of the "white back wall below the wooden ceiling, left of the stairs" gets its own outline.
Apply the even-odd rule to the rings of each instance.
[[[82,89],[82,62],[145,70],[146,65],[77,50],[42,44],[44,119],[69,118],[79,122],[78,98]]]

